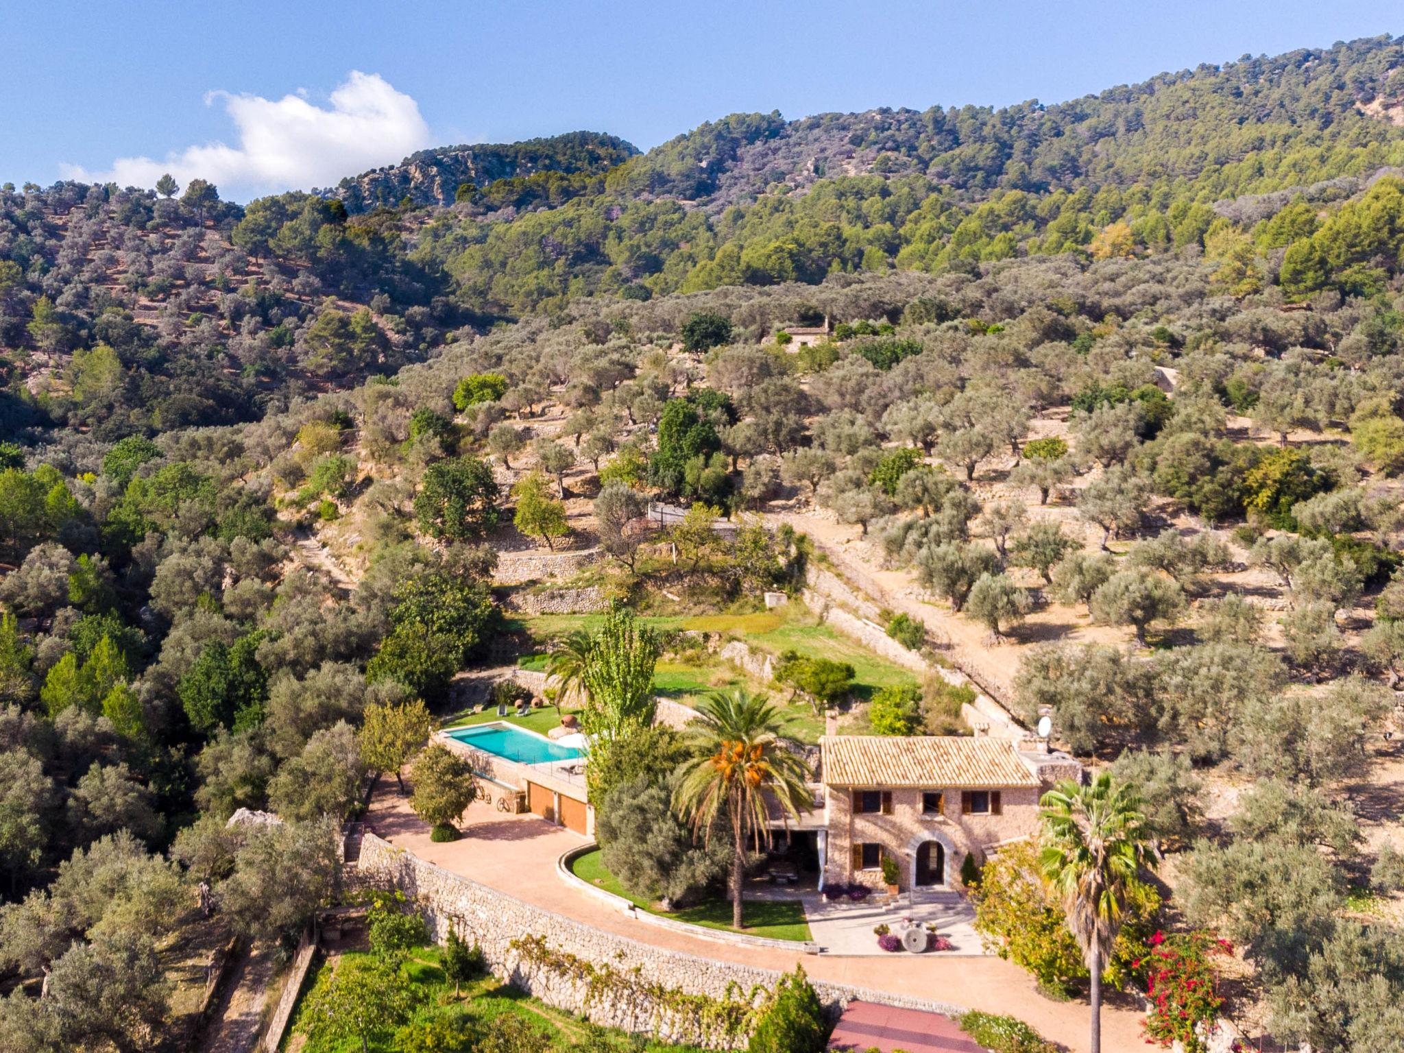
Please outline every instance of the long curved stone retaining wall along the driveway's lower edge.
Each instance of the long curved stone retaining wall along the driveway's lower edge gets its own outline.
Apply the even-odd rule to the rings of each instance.
[[[536,969],[511,948],[511,942],[542,936],[552,951],[574,955],[595,966],[609,966],[616,973],[636,974],[667,991],[712,998],[744,998],[757,988],[771,991],[782,976],[771,969],[668,951],[597,929],[425,862],[375,834],[365,835],[359,868],[369,880],[395,886],[416,900],[434,939],[442,941],[449,927],[456,928],[463,939],[482,948],[494,976],[541,998],[548,1005],[585,1015],[605,1026],[633,1032],[651,1031],[660,1038],[673,1040],[689,1038],[695,1045],[710,1049],[736,1049],[746,1045],[746,1036],[696,1035],[684,1031],[684,1024],[675,1019],[674,1011],[661,998],[621,1000],[607,993],[590,1000],[588,981],[584,977]],[[824,980],[812,979],[812,983],[831,1014],[840,1012],[851,1001],[870,1001],[945,1015],[963,1012],[959,1007],[927,998]]]

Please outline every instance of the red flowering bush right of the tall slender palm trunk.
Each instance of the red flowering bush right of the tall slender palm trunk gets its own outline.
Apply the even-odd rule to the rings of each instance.
[[[1171,936],[1155,932],[1146,943],[1150,953],[1133,967],[1144,976],[1151,1000],[1147,1040],[1170,1046],[1179,1039],[1186,1053],[1203,1053],[1205,1043],[1196,1029],[1219,1019],[1224,1004],[1210,958],[1230,955],[1233,946],[1207,932]]]

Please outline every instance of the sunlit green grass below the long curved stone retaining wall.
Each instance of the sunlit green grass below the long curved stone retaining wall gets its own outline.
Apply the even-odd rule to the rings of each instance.
[[[365,958],[365,955],[343,955],[343,960]],[[553,1050],[571,1050],[577,1046],[588,1045],[590,1050],[619,1050],[619,1053],[696,1053],[692,1046],[671,1046],[665,1042],[649,1040],[637,1045],[635,1039],[621,1031],[591,1029],[580,1018],[553,1009],[545,1002],[536,1001],[515,987],[508,987],[493,977],[484,977],[463,987],[462,997],[455,997],[453,987],[444,979],[439,967],[439,949],[416,948],[409,952],[403,963],[403,974],[414,994],[418,1008],[414,1011],[414,1022],[431,1019],[449,1019],[465,1031],[486,1033],[493,1031],[496,1021],[505,1016],[519,1016],[532,1028],[541,1032],[552,1045]],[[327,969],[327,962],[319,962],[306,990],[312,990],[316,980]],[[305,995],[303,995],[305,997]],[[319,1024],[302,1018],[302,1005],[293,1015],[293,1025],[284,1040],[284,1049],[292,1046],[292,1035],[302,1032],[309,1038],[305,1050],[316,1053],[361,1053],[361,1040],[348,1038],[344,1040],[329,1039],[319,1033]],[[600,1043],[588,1042],[592,1035],[598,1035]],[[369,1047],[373,1053],[399,1053],[402,1046],[395,1040],[395,1031],[386,1029],[369,1036]],[[466,1046],[465,1046],[466,1049]]]

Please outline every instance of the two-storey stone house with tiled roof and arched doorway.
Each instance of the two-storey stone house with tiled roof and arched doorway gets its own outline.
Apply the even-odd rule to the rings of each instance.
[[[953,889],[967,855],[1033,835],[1039,797],[1082,772],[1039,740],[830,734],[820,748],[826,883],[880,887],[886,856],[903,890]]]

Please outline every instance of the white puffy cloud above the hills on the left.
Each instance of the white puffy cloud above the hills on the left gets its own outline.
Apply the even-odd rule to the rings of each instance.
[[[118,157],[105,171],[63,164],[63,178],[153,187],[161,173],[184,185],[204,178],[225,198],[251,192],[329,187],[344,176],[399,161],[430,145],[418,104],[378,73],[351,74],[331,93],[329,108],[302,93],[278,100],[212,91],[239,129],[239,145],[212,142],[173,152],[166,160]]]

